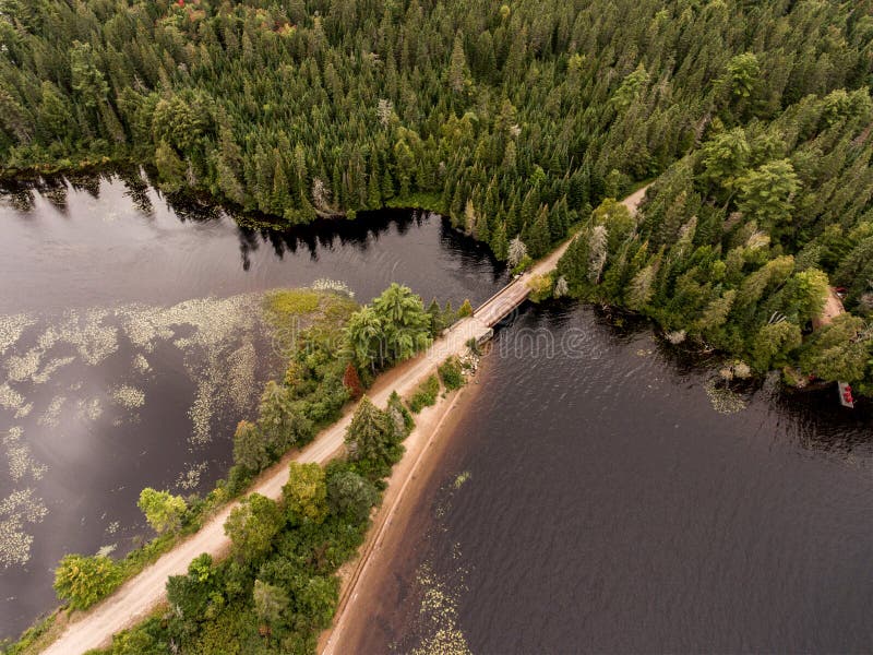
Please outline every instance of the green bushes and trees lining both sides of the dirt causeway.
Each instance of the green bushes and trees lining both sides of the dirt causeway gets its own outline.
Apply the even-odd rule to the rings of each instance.
[[[414,356],[456,317],[451,307],[442,310],[435,302],[426,309],[408,287],[396,284],[363,307],[338,283],[315,286],[265,298],[264,311],[287,366],[279,380],[266,383],[256,418],[237,427],[227,478],[205,498],[143,489],[139,507],[157,536],[120,561],[103,553],[65,556],[55,588],[67,608],[92,607],[196,532],[259,473],[338,419],[347,402],[363,393],[362,378],[372,380],[382,368]],[[433,381],[435,397],[439,382]],[[397,394],[384,409],[363,396],[347,434],[347,460],[324,468],[291,464],[291,479],[278,502],[258,495],[244,498],[225,526],[231,557],[212,562],[204,555],[192,562],[188,577],[168,584],[172,618],[156,615],[118,638],[111,652],[166,652],[169,644],[190,653],[249,653],[254,645],[267,652],[313,650],[333,616],[334,572],[357,551],[383,478],[403,455],[402,441],[412,427]],[[38,638],[56,632],[52,623],[55,618],[35,627],[8,652],[34,652],[44,643]],[[240,634],[238,642],[228,645],[219,638],[237,628],[240,632],[230,633]]]

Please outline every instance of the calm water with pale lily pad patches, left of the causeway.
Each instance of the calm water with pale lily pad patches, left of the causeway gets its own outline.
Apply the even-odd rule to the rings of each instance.
[[[0,639],[55,605],[65,552],[123,553],[145,486],[208,490],[279,362],[264,290],[390,282],[456,307],[504,275],[435,216],[289,231],[172,205],[141,180],[43,182],[0,196]]]

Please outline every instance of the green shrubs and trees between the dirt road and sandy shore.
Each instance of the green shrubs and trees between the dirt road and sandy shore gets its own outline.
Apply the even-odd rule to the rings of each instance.
[[[388,289],[381,299],[396,293]],[[420,299],[412,311],[427,315]],[[440,367],[440,376],[446,391],[463,384],[454,358]],[[439,393],[438,378],[430,380]],[[187,575],[170,577],[166,609],[115,635],[103,653],[314,652],[338,600],[336,572],[362,544],[414,426],[396,393],[385,408],[363,396],[346,432],[345,457],[324,467],[292,462],[279,500],[244,498],[225,523],[228,558],[216,562],[202,555]]]

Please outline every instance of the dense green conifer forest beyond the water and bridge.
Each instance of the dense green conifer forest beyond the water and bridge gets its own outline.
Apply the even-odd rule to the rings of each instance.
[[[871,0],[0,0],[0,168],[426,206],[499,259],[578,230],[571,295],[871,393],[872,80]]]

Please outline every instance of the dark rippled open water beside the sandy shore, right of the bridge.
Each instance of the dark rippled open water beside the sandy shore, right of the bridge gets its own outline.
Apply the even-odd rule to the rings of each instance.
[[[719,413],[588,308],[528,309],[485,369],[361,652],[873,647],[869,413],[770,384]]]

